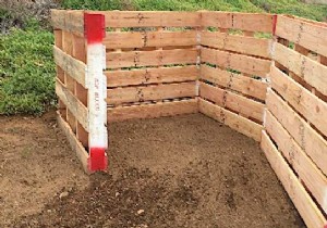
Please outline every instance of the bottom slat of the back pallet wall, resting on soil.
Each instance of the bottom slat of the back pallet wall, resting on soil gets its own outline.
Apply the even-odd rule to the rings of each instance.
[[[197,112],[196,99],[160,102],[156,104],[118,106],[108,109],[108,122],[121,122],[133,118],[157,118]]]

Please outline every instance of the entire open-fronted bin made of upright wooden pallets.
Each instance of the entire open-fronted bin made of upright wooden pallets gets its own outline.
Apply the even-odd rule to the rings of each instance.
[[[58,122],[85,172],[107,167],[107,124],[199,112],[261,143],[305,224],[326,227],[327,24],[209,11],[51,18]]]

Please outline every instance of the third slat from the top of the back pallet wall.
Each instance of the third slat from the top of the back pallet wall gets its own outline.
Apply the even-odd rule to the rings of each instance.
[[[174,49],[155,51],[130,51],[107,53],[107,67],[158,66],[170,64],[195,64],[197,50]]]

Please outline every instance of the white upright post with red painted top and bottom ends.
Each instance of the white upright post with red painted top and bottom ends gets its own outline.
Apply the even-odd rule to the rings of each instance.
[[[105,52],[102,39],[106,36],[105,15],[84,14],[88,87],[88,169],[107,168],[107,81],[104,75]]]

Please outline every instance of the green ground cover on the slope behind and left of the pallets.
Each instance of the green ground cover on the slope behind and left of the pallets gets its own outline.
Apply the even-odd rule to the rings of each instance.
[[[61,0],[61,3],[64,9],[214,10],[327,18],[327,5],[304,4],[300,0]],[[16,15],[16,12],[0,9],[0,21],[14,20]],[[23,29],[0,35],[0,114],[41,114],[56,105],[52,33],[33,20],[24,20]]]

